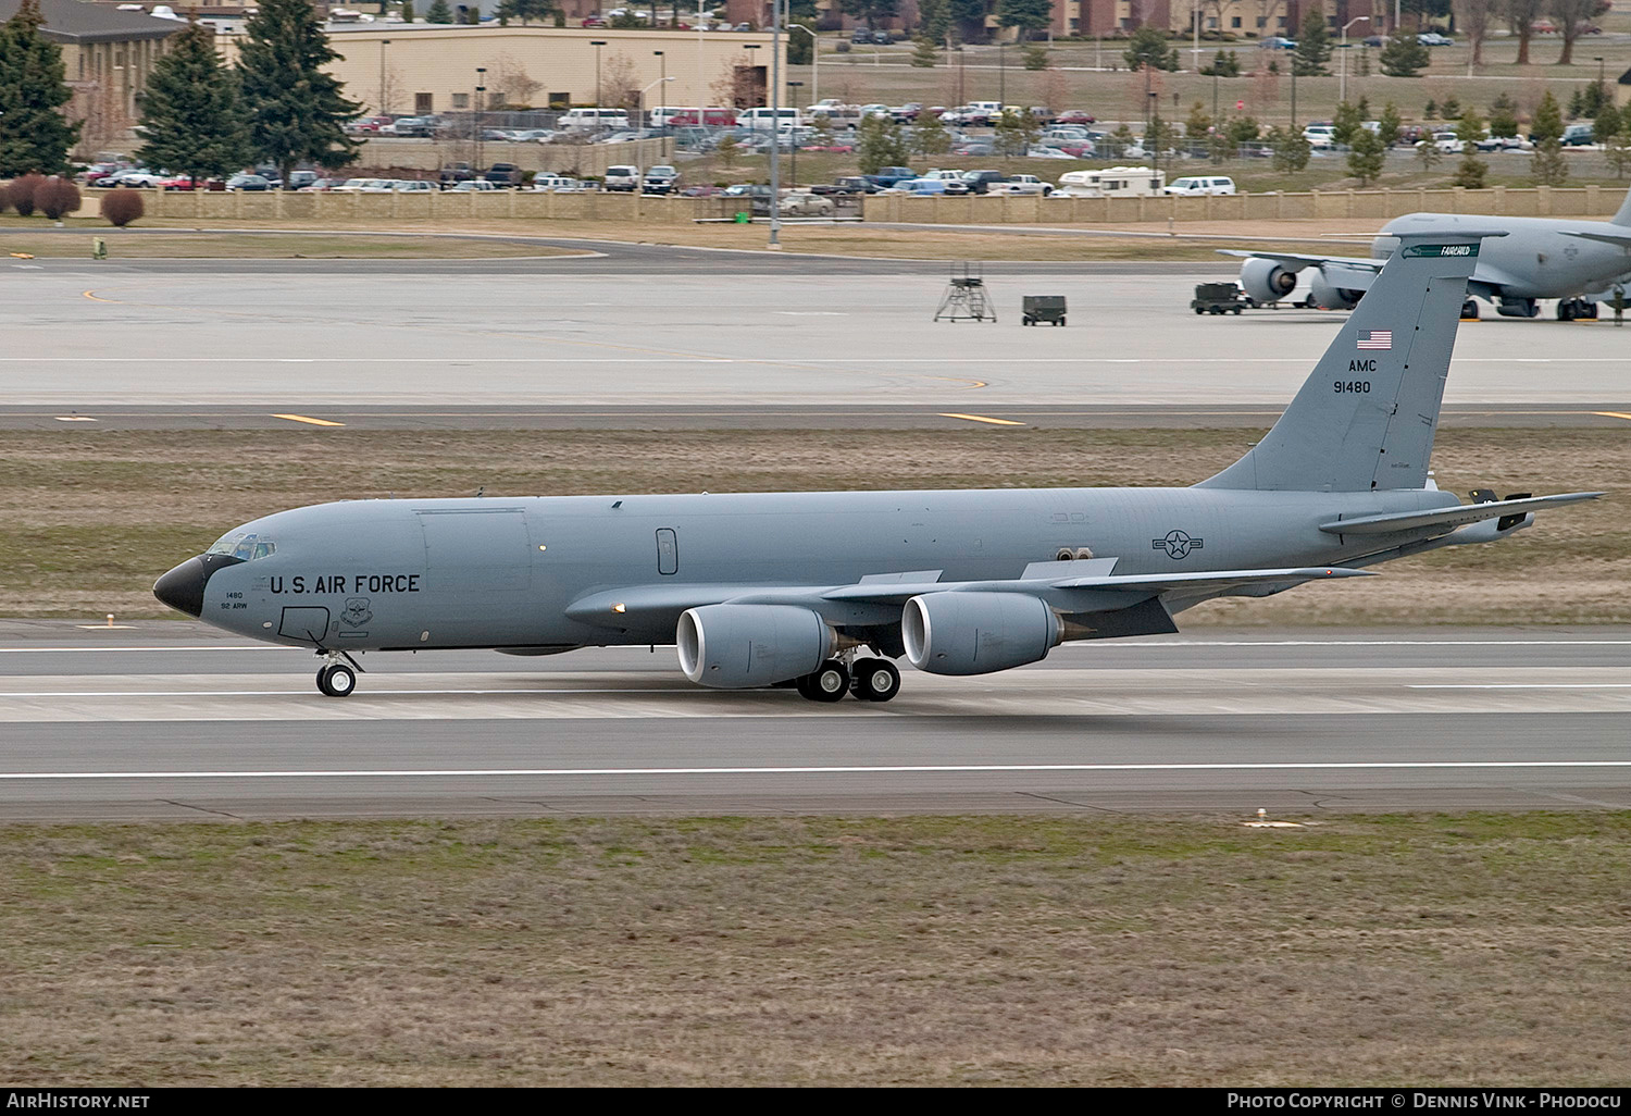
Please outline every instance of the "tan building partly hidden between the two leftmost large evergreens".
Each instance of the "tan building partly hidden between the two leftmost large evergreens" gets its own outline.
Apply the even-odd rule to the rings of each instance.
[[[16,15],[18,0],[0,0],[0,21]],[[109,144],[126,144],[140,117],[137,96],[147,75],[165,55],[168,39],[186,24],[145,11],[83,0],[39,0],[46,23],[39,33],[62,47],[62,69],[73,100],[65,113],[83,121],[82,155]]]

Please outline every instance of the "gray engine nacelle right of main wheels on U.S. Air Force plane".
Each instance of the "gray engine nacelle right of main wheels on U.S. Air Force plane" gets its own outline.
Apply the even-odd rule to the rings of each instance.
[[[1023,592],[930,592],[900,617],[907,659],[930,674],[990,674],[1047,658],[1059,617]]]

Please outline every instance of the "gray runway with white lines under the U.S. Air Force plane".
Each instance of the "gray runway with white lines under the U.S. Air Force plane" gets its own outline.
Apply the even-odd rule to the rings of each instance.
[[[887,705],[692,687],[672,648],[369,656],[0,623],[0,817],[1631,808],[1631,631],[1068,644]]]

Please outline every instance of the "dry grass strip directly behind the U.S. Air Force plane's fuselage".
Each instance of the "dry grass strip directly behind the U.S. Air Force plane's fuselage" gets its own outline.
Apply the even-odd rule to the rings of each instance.
[[[153,579],[230,527],[339,498],[846,488],[1189,485],[1254,431],[13,431],[0,432],[0,615],[173,615]],[[1439,485],[1631,489],[1618,429],[1439,437]],[[344,460],[344,488],[333,463]],[[165,509],[155,514],[153,509]],[[1218,600],[1186,625],[1621,623],[1624,499],[1548,512],[1515,538],[1424,555],[1383,578]]]

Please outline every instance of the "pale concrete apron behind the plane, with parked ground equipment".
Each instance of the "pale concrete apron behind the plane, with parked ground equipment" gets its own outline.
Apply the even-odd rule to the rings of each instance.
[[[935,323],[938,263],[617,251],[475,268],[29,261],[0,272],[15,281],[0,377],[10,405],[52,423],[139,408],[179,424],[238,410],[1267,413],[1344,317],[1196,317],[1191,287],[1218,276],[1207,264],[993,264],[1000,321]],[[1024,294],[1063,294],[1068,326],[1023,328]],[[1607,321],[1466,325],[1447,403],[1631,414],[1626,336]]]

